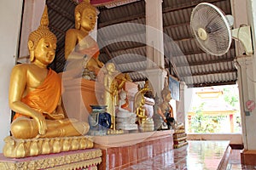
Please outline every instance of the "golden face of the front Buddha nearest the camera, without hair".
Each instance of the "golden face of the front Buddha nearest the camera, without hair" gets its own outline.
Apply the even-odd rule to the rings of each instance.
[[[49,65],[55,59],[56,41],[43,37],[34,49],[35,59],[44,65]]]

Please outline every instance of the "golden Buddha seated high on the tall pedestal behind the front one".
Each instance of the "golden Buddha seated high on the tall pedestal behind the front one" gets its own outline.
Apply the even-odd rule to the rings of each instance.
[[[97,9],[90,0],[84,0],[75,8],[74,15],[75,29],[69,29],[65,37],[66,70],[88,69],[97,75],[103,63],[98,59],[99,47],[89,35],[96,25]]]

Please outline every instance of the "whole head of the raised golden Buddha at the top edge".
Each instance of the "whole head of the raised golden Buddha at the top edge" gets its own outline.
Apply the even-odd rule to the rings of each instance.
[[[90,4],[90,0],[79,3],[74,13],[76,29],[87,32],[94,29],[98,10]]]

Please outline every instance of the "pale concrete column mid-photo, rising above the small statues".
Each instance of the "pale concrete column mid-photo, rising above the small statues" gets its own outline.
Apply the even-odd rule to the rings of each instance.
[[[166,77],[164,61],[162,0],[145,0],[146,4],[146,42],[147,71],[154,93],[160,97]]]

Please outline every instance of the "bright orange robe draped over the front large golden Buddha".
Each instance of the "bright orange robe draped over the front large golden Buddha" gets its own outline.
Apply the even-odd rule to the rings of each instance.
[[[26,94],[21,99],[23,103],[30,106],[35,111],[42,114],[44,112],[52,113],[55,111],[61,96],[61,78],[55,71],[49,69],[48,75],[44,82],[35,90]],[[15,118],[24,116],[22,113],[15,113]]]

